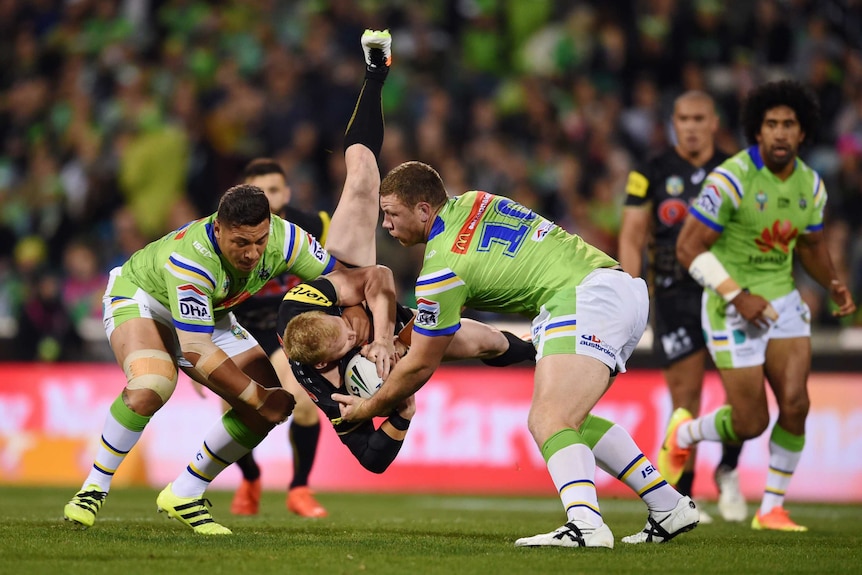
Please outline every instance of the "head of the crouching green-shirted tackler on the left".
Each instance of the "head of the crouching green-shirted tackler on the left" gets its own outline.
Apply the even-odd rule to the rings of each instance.
[[[240,184],[219,200],[213,235],[222,255],[240,271],[251,271],[269,241],[269,201],[257,186]]]

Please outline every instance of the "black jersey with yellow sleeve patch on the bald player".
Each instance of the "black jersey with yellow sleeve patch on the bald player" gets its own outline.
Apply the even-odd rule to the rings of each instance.
[[[716,150],[709,161],[697,167],[671,148],[629,172],[625,205],[648,206],[652,213],[650,272],[656,291],[677,287],[701,289],[676,259],[676,240],[688,207],[700,193],[706,176],[728,157]]]

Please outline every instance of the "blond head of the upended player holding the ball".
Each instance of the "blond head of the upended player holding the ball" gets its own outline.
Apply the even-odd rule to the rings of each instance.
[[[356,332],[339,316],[322,311],[301,313],[282,334],[284,353],[300,363],[321,366],[344,357],[356,347]]]

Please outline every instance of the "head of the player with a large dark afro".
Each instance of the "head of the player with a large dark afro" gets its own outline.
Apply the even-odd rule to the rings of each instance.
[[[748,93],[742,125],[749,144],[760,146],[763,161],[778,171],[796,159],[820,121],[817,97],[795,80],[769,82]]]

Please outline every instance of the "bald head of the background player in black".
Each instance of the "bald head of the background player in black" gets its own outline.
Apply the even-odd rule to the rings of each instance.
[[[715,102],[706,92],[690,90],[673,103],[676,150],[687,160],[708,159],[718,130]]]

